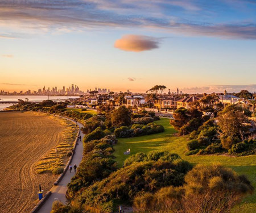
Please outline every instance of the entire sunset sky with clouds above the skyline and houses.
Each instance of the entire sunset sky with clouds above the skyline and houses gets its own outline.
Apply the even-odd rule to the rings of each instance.
[[[0,0],[0,90],[256,91],[256,0]]]

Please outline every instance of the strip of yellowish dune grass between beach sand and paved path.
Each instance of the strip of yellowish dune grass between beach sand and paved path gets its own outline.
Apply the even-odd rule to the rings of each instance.
[[[57,174],[56,171],[61,172],[61,168],[64,168],[65,161],[68,159],[68,152],[70,152],[75,143],[78,128],[70,120],[58,118],[55,116],[49,116],[56,122],[59,122],[65,126],[61,131],[61,143],[40,159],[35,165],[36,173],[51,172]]]

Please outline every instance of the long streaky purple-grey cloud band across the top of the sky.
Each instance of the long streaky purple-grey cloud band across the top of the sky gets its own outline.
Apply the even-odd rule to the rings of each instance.
[[[254,3],[253,0],[245,2]],[[13,27],[14,30],[29,28],[34,32],[59,31],[67,28],[81,30],[96,27],[136,27],[160,29],[185,36],[256,39],[254,19],[241,19],[240,22],[193,23],[182,17],[187,13],[210,13],[211,4],[202,3],[200,0],[2,0],[0,27]],[[180,14],[174,16],[173,11],[179,11]]]

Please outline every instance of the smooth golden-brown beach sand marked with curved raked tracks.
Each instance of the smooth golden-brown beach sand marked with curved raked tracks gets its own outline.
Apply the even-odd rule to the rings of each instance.
[[[36,174],[35,164],[62,140],[65,126],[47,115],[0,113],[0,212],[30,212],[57,176]]]

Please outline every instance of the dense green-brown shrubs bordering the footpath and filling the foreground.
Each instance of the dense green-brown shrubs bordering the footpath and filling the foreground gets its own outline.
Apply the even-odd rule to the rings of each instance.
[[[122,107],[119,108],[120,111],[126,110]],[[196,212],[195,210],[201,210],[200,204],[204,202],[203,197],[206,194],[211,197],[210,193],[229,195],[222,202],[231,201],[228,204],[225,203],[223,211],[220,211],[229,212],[234,204],[253,191],[253,187],[245,177],[238,176],[229,169],[221,166],[192,169],[193,166],[188,161],[182,160],[178,154],[169,151],[137,153],[127,158],[123,167],[118,169],[113,156],[113,145],[118,143],[115,135],[122,135],[121,132],[124,130],[133,131],[151,125],[153,127],[162,125],[133,123],[134,115],[129,113],[127,116],[125,115],[126,118],[118,119],[117,116],[114,116],[113,122],[112,115],[115,112],[116,110],[110,110],[86,120],[83,129],[87,133],[84,139],[84,157],[77,174],[68,186],[69,203],[64,205],[55,202],[52,212],[111,213],[120,203],[134,206],[134,210],[137,212],[172,212],[172,210],[174,210],[173,212],[182,212],[181,210],[185,207],[180,207],[181,204],[186,206],[186,210],[189,210],[187,212]],[[123,116],[122,113],[118,114]],[[141,118],[146,118],[146,116]],[[136,137],[133,136],[133,138]],[[196,178],[199,180],[201,178],[201,182]],[[214,185],[215,183],[216,185]],[[233,188],[228,187],[228,183],[233,183]],[[194,189],[195,184],[197,187]],[[225,186],[222,189],[218,187],[221,184]],[[211,188],[212,186],[214,189]],[[189,209],[187,206],[192,203],[192,190],[197,190],[198,199],[195,206],[191,205],[191,209]],[[172,198],[166,197],[165,202],[160,202],[162,200],[158,200],[156,196],[162,193],[164,194],[163,199],[170,193],[179,194],[174,201],[175,203],[179,202],[179,205],[174,204],[164,210],[163,206],[166,206],[169,201],[172,202],[170,200]],[[150,198],[148,199],[150,202],[147,202],[147,198]],[[155,205],[151,205],[151,202]],[[217,207],[216,203],[217,200],[214,199],[214,208],[220,208],[220,205]]]

